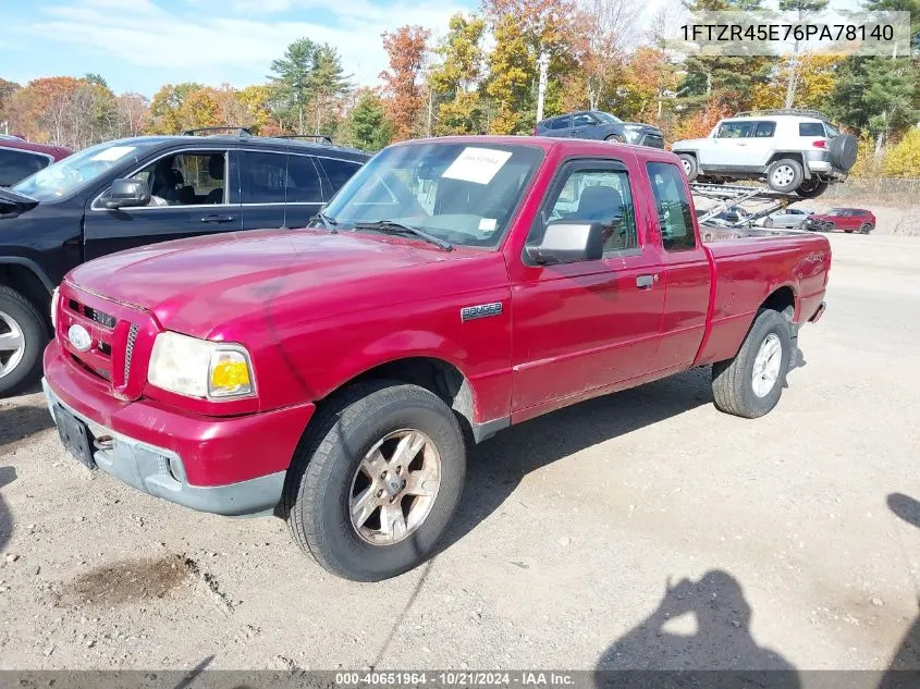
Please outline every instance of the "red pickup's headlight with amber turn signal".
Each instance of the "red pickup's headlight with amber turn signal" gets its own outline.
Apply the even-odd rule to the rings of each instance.
[[[243,397],[255,390],[253,366],[244,347],[174,332],[157,335],[147,380],[191,397]]]

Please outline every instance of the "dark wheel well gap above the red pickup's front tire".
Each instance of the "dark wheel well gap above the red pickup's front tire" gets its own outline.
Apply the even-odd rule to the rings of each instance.
[[[464,433],[473,433],[473,389],[452,364],[433,357],[410,357],[381,364],[348,381],[398,380],[438,395],[454,410]]]

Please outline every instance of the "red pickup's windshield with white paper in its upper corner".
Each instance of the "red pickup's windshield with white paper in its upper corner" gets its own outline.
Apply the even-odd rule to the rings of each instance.
[[[542,157],[531,146],[394,146],[361,168],[323,213],[339,230],[388,220],[451,244],[495,247]]]

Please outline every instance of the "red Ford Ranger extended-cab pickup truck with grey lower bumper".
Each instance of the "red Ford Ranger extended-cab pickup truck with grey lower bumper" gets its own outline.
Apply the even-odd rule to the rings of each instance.
[[[87,466],[280,515],[330,571],[379,580],[430,555],[466,447],[511,423],[703,365],[717,408],[770,411],[830,262],[823,236],[702,243],[670,152],[417,140],[308,226],[74,269],[44,385]]]

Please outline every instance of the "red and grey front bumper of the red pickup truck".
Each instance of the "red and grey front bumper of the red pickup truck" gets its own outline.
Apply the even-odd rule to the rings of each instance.
[[[281,500],[287,467],[314,411],[304,404],[230,418],[192,417],[152,401],[102,393],[61,356],[45,352],[41,384],[54,418],[59,405],[89,429],[93,457],[107,473],[145,493],[200,512],[250,515]]]

